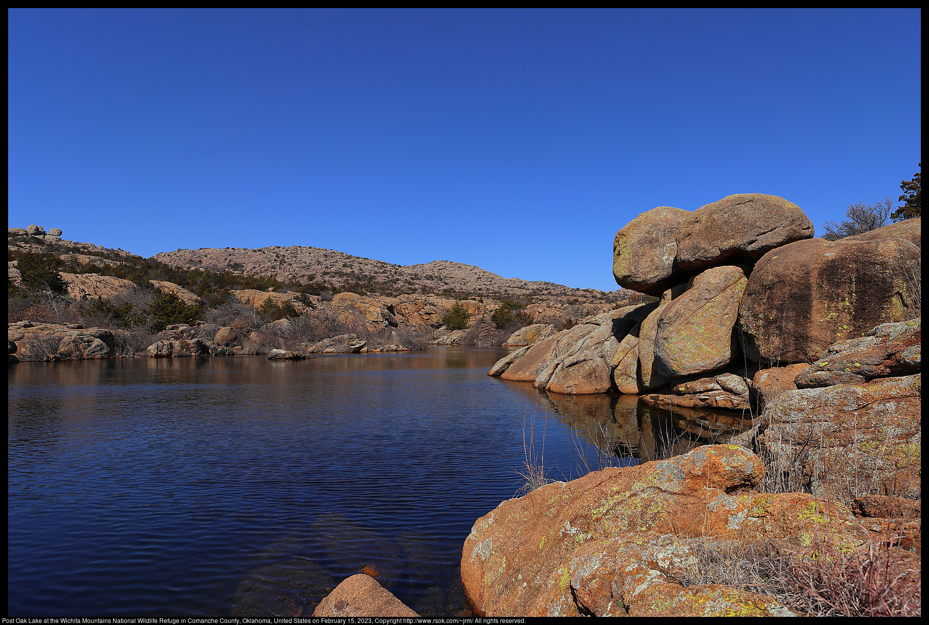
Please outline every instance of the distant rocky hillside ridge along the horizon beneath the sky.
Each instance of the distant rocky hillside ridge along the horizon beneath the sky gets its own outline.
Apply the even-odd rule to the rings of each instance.
[[[433,260],[419,265],[393,265],[321,247],[262,247],[245,249],[178,249],[153,259],[181,269],[202,269],[275,278],[281,283],[336,286],[355,293],[442,293],[504,297],[549,295],[568,298],[621,299],[619,291],[571,288],[552,282],[504,278],[473,265]],[[363,293],[362,293],[363,294]]]

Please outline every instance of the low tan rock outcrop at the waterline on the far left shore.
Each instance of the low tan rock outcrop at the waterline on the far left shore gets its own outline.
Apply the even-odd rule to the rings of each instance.
[[[115,354],[115,337],[102,327],[20,321],[8,326],[7,338],[17,361],[88,360]]]

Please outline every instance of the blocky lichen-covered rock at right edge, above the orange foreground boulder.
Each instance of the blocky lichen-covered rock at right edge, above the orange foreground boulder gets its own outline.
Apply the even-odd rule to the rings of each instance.
[[[921,459],[921,374],[782,392],[758,443],[819,497],[867,493]]]

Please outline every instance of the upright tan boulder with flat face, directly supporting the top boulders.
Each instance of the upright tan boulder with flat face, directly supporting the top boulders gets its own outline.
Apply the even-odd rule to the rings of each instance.
[[[739,299],[748,284],[743,268],[713,267],[661,313],[655,333],[655,363],[669,379],[714,371],[729,364],[737,349],[732,334]]]

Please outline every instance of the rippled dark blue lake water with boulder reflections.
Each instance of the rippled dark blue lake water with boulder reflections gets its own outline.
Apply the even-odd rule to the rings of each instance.
[[[309,616],[369,566],[453,616],[527,451],[570,479],[731,420],[489,378],[508,352],[9,366],[7,614]]]

